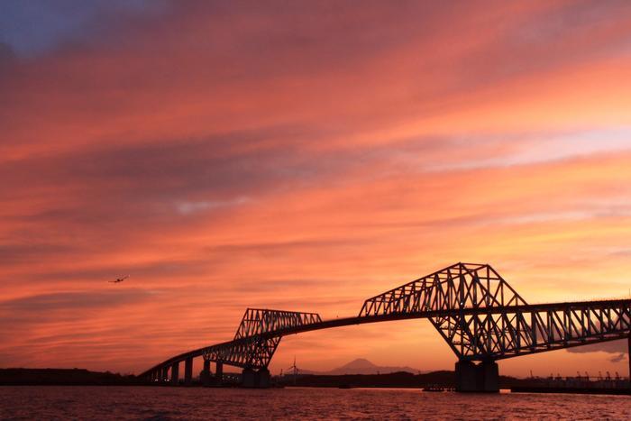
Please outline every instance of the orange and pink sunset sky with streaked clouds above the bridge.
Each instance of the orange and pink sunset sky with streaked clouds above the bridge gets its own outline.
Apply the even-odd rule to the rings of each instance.
[[[138,373],[457,261],[529,303],[631,294],[627,1],[3,0],[0,130],[0,367]],[[294,356],[455,362],[427,320],[286,337],[272,373]]]

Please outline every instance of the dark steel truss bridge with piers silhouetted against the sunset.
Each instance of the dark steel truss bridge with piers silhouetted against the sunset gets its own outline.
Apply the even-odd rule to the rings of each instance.
[[[488,264],[460,262],[370,297],[358,316],[322,320],[316,313],[248,308],[232,341],[181,353],[141,376],[178,385],[184,362],[184,383],[191,384],[193,359],[201,356],[205,383],[221,381],[226,364],[243,369],[243,386],[269,387],[268,365],[283,336],[416,318],[429,319],[456,354],[458,391],[498,391],[496,361],[506,358],[625,338],[631,351],[631,299],[529,305]]]

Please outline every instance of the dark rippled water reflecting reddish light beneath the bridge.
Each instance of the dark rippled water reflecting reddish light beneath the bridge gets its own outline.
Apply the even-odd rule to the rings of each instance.
[[[418,389],[0,387],[1,419],[617,419],[631,397]]]

